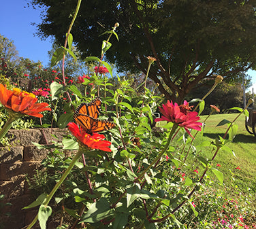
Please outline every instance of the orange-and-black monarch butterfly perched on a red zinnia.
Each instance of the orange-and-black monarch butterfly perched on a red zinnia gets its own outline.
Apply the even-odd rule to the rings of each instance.
[[[91,103],[81,103],[75,111],[74,120],[90,135],[116,126],[113,122],[98,120],[101,109],[101,99],[94,99]]]

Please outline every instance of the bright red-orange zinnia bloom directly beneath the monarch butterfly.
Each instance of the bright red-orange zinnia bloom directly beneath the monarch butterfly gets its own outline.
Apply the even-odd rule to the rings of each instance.
[[[74,122],[69,122],[68,128],[72,135],[74,135],[81,143],[87,145],[91,149],[100,149],[102,151],[111,152],[111,149],[109,148],[111,142],[103,140],[105,139],[104,135],[99,135],[98,133],[89,135],[85,132],[84,129],[79,128],[78,125]]]

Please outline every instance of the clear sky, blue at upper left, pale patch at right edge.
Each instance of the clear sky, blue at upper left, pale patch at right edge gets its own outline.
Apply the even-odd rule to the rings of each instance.
[[[36,27],[31,22],[38,24],[41,21],[40,10],[27,7],[28,2],[29,0],[9,0],[1,3],[0,34],[14,41],[19,56],[35,62],[40,60],[43,65],[47,65],[52,41],[50,38],[42,41],[34,35]],[[249,71],[248,74],[253,77],[256,92],[256,71]]]

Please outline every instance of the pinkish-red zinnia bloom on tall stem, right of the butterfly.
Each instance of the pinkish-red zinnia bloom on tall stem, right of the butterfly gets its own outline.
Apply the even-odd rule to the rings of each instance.
[[[197,116],[196,111],[190,111],[191,107],[189,107],[187,101],[184,101],[180,106],[177,103],[173,104],[170,103],[170,101],[167,101],[166,104],[163,104],[163,108],[159,107],[159,109],[163,116],[161,118],[156,118],[155,122],[175,122],[179,126],[184,127],[191,137],[193,136],[191,135],[189,128],[201,131],[202,122],[197,122],[200,118]]]

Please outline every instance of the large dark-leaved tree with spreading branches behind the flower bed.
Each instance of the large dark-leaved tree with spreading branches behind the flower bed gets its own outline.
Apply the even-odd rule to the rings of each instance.
[[[37,34],[64,43],[76,1],[31,4],[46,7]],[[83,0],[71,33],[84,56],[99,56],[99,35],[119,22],[108,61],[119,71],[146,73],[146,57],[154,56],[149,77],[167,99],[180,102],[207,77],[236,80],[255,69],[255,6],[255,0]]]

